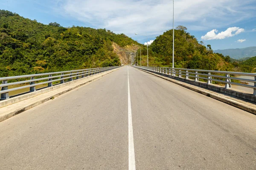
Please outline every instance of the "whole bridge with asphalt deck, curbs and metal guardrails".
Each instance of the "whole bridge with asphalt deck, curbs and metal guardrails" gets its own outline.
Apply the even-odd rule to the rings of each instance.
[[[0,78],[0,169],[255,169],[255,94],[231,85],[256,81],[233,74],[256,77],[127,65]]]

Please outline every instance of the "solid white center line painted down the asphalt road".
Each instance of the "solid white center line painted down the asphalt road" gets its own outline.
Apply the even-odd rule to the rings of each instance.
[[[129,170],[136,170],[135,154],[134,154],[134,140],[131,117],[131,96],[130,96],[130,82],[129,82],[129,67],[127,67],[128,75],[128,146],[129,146]]]

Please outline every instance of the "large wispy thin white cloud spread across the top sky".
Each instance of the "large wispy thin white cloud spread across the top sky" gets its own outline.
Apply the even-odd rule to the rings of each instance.
[[[209,5],[209,0],[176,0],[175,26],[189,30],[228,27],[255,16],[253,1],[215,0]],[[172,28],[172,0],[62,0],[56,8],[85,26],[132,37],[135,32],[153,37]]]

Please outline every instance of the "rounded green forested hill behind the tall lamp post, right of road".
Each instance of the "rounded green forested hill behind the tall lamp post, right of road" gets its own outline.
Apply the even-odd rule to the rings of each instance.
[[[145,49],[143,50],[145,54]],[[211,45],[204,46],[195,36],[186,32],[186,27],[175,29],[175,67],[205,70],[231,71],[230,57],[213,53]],[[172,30],[156,37],[149,46],[149,64],[172,67]]]

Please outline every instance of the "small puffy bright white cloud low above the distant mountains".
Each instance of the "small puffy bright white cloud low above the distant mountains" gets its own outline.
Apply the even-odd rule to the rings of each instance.
[[[239,27],[230,27],[227,28],[226,31],[221,31],[220,33],[216,34],[218,30],[213,29],[212,31],[207,32],[204,36],[201,37],[202,40],[221,40],[228,37],[233,37],[235,35],[240,34],[241,32],[244,32],[244,28]],[[235,32],[234,34],[232,34]]]

